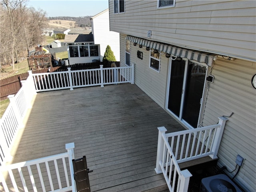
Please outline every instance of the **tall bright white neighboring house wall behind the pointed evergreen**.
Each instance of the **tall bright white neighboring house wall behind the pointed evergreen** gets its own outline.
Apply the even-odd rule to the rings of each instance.
[[[109,30],[109,10],[106,9],[91,18],[94,43],[100,44],[100,60],[102,61],[106,47],[109,45],[117,61],[120,61],[119,33]]]

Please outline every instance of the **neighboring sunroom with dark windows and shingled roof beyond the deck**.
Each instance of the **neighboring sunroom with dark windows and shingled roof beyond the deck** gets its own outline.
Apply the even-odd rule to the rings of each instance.
[[[93,35],[65,35],[64,44],[68,46],[69,64],[90,63],[100,59],[100,45],[94,44]]]

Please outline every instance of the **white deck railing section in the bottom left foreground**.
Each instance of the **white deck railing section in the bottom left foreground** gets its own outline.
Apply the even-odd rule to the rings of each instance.
[[[66,153],[0,167],[0,182],[9,191],[76,191],[74,182],[74,143]]]

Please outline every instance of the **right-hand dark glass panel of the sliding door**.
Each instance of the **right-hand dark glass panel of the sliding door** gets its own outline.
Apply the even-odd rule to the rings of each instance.
[[[206,66],[188,62],[182,119],[196,128],[204,91]]]

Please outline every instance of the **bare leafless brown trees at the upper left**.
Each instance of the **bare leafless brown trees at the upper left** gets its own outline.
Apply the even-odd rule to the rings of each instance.
[[[0,1],[0,61],[14,70],[20,54],[43,42],[48,19],[45,11],[27,7],[26,0]]]

